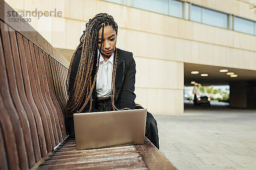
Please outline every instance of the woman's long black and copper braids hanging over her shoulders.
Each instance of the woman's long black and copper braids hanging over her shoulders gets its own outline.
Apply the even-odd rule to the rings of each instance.
[[[99,36],[99,30],[100,28],[102,28],[102,36],[101,36],[100,49],[99,49],[99,51],[101,51],[104,27],[111,26],[115,31],[117,31],[118,29],[118,26],[114,21],[113,17],[106,13],[96,14],[96,16],[90,19],[85,26],[86,28],[83,31],[84,34],[80,37],[80,43],[72,55],[70,66],[68,69],[68,74],[67,74],[67,82],[66,82],[67,94],[68,94],[67,117],[73,116],[73,113],[81,112],[84,109],[84,107],[87,105],[89,100],[90,100],[89,112],[91,111],[92,92],[95,86],[96,76],[99,69],[100,53],[99,53],[98,62],[96,65],[96,74],[94,77],[92,77],[93,63],[94,63],[93,60],[94,60],[94,54],[97,48],[96,45],[97,45],[97,40]],[[73,64],[76,51],[78,50],[79,47],[82,47],[81,59],[79,62],[79,68],[76,75],[75,83],[70,94],[69,82],[70,82],[71,67]],[[112,82],[111,82],[112,83],[111,98],[112,98],[113,110],[115,110],[113,102],[114,102],[114,93],[115,93],[114,85],[115,85],[116,61],[117,61],[116,48],[113,51],[113,53],[114,53],[114,65],[113,65],[113,74],[112,74]],[[85,99],[84,103],[82,103],[83,99]]]

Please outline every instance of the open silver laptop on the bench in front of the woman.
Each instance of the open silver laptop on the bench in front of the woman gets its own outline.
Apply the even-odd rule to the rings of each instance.
[[[144,144],[147,109],[75,113],[76,150]]]

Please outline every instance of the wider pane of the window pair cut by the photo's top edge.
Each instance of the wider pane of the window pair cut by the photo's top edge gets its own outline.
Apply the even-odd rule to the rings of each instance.
[[[132,0],[132,6],[161,14],[168,14],[168,0]]]

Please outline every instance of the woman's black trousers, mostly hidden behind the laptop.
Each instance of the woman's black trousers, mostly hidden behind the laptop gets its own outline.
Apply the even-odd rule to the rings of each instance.
[[[111,99],[96,100],[95,108],[98,111],[113,111]],[[143,107],[136,106],[135,109],[143,109]],[[66,128],[67,128],[67,133],[74,138],[75,130],[74,130],[73,117],[67,120]],[[156,119],[154,119],[153,115],[149,112],[147,112],[145,136],[148,138],[150,142],[152,142],[155,145],[155,147],[157,147],[157,149],[159,149],[157,121]]]

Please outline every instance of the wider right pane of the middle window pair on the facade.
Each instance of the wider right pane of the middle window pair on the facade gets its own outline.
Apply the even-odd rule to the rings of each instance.
[[[203,8],[203,23],[227,28],[227,14]]]

